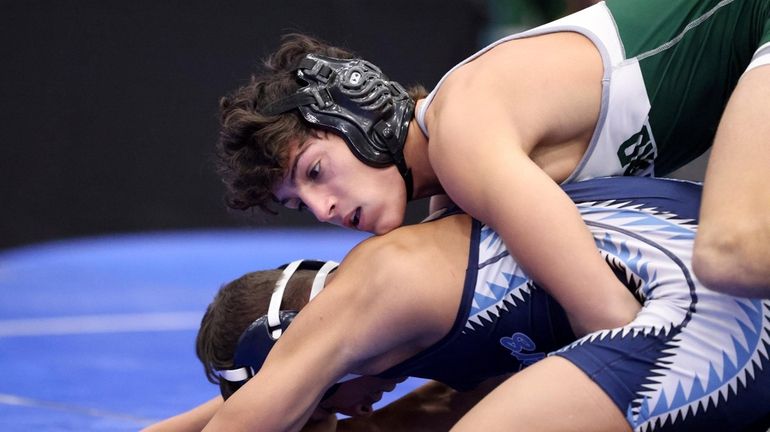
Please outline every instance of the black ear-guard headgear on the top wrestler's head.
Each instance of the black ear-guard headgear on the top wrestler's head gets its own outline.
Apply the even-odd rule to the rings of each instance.
[[[414,101],[380,68],[362,59],[307,54],[299,63],[302,87],[265,110],[278,115],[298,109],[310,124],[342,135],[356,157],[382,168],[395,164],[412,199],[412,172],[404,159]]]

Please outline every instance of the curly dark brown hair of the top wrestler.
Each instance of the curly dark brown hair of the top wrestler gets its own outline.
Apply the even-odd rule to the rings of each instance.
[[[217,171],[226,186],[225,202],[237,210],[258,207],[275,213],[273,188],[289,163],[289,144],[302,143],[317,130],[297,110],[278,115],[263,112],[299,89],[296,69],[308,53],[349,59],[354,54],[303,34],[283,37],[278,50],[263,61],[263,71],[220,102]],[[413,99],[425,97],[422,86],[408,89]]]

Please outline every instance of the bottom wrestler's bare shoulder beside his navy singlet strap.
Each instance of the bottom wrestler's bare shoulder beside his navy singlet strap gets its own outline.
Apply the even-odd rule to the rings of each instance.
[[[358,311],[343,329],[358,372],[379,373],[446,335],[460,304],[469,232],[468,216],[450,216],[371,237],[345,257],[324,291],[334,292],[327,304],[338,321]]]

